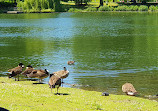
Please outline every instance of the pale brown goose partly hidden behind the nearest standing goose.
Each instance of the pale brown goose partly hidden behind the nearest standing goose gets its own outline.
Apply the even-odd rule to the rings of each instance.
[[[53,72],[53,74],[56,75],[57,77],[61,78],[62,79],[62,83],[63,83],[63,79],[68,77],[69,71],[66,69],[66,67],[64,67],[64,70]]]

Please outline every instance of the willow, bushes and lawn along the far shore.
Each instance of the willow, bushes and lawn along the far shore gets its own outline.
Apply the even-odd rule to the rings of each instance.
[[[120,0],[115,2],[103,0],[103,2],[104,5],[100,6],[100,0],[0,0],[0,6],[1,9],[18,7],[18,10],[23,12],[158,11],[158,6],[153,5],[119,5],[116,2],[122,2]],[[14,9],[6,8],[6,10]]]

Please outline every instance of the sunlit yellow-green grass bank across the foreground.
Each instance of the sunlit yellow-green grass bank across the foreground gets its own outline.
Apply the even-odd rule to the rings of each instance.
[[[0,77],[0,107],[10,111],[156,111],[158,102],[126,96],[101,96],[101,92],[75,88],[59,88],[51,93],[48,84],[32,84],[33,81],[14,81]],[[56,92],[56,89],[53,89]],[[64,95],[65,94],[65,95]]]

